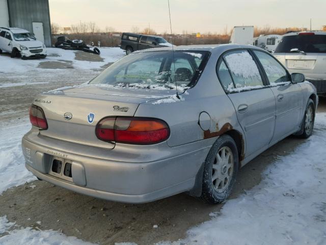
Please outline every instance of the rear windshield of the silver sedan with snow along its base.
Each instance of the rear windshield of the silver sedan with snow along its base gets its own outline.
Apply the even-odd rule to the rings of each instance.
[[[130,54],[108,67],[90,84],[150,89],[175,89],[175,84],[181,88],[191,87],[204,69],[208,55],[209,52],[197,51],[175,51],[174,56],[172,51]]]

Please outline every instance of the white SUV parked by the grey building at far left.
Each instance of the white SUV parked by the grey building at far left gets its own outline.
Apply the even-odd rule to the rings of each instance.
[[[45,58],[46,47],[44,43],[36,40],[35,36],[27,30],[20,28],[0,27],[0,54],[8,52],[11,58]]]

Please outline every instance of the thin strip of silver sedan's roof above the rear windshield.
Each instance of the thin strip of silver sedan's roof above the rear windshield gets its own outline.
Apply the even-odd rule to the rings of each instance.
[[[251,48],[255,50],[265,51],[260,47],[254,45],[240,45],[240,44],[203,44],[203,45],[182,45],[174,46],[174,51],[209,51],[211,53],[225,52],[228,50],[235,50],[237,48]],[[146,50],[139,50],[133,53],[143,53],[152,51],[172,51],[172,47],[155,47]]]

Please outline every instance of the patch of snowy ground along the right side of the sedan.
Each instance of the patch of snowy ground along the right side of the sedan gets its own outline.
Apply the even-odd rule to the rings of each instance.
[[[326,244],[325,145],[326,113],[319,113],[314,134],[268,167],[258,186],[186,239],[158,244]]]

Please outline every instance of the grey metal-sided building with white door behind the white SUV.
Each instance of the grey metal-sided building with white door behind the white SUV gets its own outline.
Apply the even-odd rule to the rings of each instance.
[[[48,0],[0,0],[0,27],[18,27],[51,46]]]

